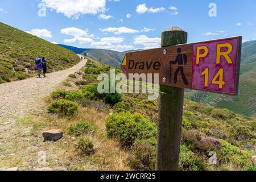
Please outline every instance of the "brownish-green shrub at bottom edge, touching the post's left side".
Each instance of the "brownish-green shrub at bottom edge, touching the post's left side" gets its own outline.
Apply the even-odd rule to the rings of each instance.
[[[128,166],[136,171],[155,170],[156,148],[148,144],[138,144],[133,147],[132,155],[127,158]]]

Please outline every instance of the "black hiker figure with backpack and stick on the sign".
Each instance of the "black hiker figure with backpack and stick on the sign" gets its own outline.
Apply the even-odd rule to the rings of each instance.
[[[177,84],[177,76],[180,72],[180,75],[182,77],[184,84],[188,85],[188,80],[184,73],[184,66],[187,64],[188,57],[185,53],[181,53],[181,48],[177,48],[177,53],[178,53],[178,55],[177,55],[175,61],[170,61],[170,65],[175,65],[175,64],[178,65],[178,67],[174,73],[174,84]]]

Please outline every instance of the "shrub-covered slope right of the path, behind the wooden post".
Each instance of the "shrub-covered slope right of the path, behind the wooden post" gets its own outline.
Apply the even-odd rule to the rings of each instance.
[[[89,60],[52,93],[52,115],[42,118],[64,131],[65,144],[57,145],[68,155],[63,161],[68,169],[153,170],[158,101],[146,94],[98,94],[98,73],[109,72],[108,65]],[[185,100],[179,169],[256,170],[255,124],[232,111]],[[217,154],[216,165],[209,164],[210,151]]]

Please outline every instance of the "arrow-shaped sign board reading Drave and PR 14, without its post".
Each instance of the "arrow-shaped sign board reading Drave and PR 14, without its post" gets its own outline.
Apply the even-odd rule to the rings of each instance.
[[[160,84],[237,95],[242,38],[181,44],[126,53],[129,73],[159,73]]]

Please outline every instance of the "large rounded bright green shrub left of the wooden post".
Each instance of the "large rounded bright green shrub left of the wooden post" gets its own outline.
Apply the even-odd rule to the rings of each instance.
[[[106,118],[109,137],[119,139],[123,147],[130,147],[136,139],[156,138],[156,125],[141,114],[121,113]]]

